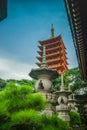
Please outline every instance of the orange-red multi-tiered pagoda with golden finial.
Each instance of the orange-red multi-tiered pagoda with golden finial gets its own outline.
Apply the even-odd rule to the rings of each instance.
[[[39,62],[36,63],[39,67],[42,62],[43,46],[46,47],[46,62],[49,69],[57,69],[59,74],[63,73],[65,70],[68,70],[66,48],[61,35],[57,37],[54,36],[53,25],[51,29],[51,38],[48,40],[39,41],[39,56],[37,57]]]

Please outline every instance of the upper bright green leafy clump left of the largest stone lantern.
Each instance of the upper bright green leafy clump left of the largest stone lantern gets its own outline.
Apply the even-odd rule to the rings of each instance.
[[[24,109],[41,110],[46,104],[46,100],[41,94],[32,93],[30,86],[15,86],[13,83],[7,85],[7,87],[0,92],[0,101],[0,106],[2,106],[3,109],[7,109],[9,113]]]

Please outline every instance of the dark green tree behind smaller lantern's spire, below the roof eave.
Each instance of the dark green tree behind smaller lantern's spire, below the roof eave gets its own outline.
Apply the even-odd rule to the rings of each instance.
[[[72,92],[75,92],[77,89],[87,87],[87,84],[81,79],[81,74],[79,68],[69,69],[64,72],[64,85],[65,89],[71,89]],[[54,91],[59,90],[61,85],[61,77],[57,78],[53,82]]]

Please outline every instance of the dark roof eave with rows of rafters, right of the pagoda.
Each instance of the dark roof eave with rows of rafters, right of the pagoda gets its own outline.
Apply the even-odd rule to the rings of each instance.
[[[64,0],[81,75],[87,81],[87,0]]]

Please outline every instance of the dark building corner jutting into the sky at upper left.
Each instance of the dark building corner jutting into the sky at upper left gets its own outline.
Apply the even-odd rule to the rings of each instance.
[[[7,0],[0,0],[0,21],[7,17]]]

